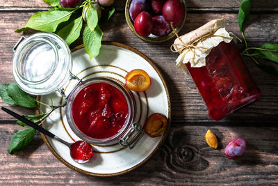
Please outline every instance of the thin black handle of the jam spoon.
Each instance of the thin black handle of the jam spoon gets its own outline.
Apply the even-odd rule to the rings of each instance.
[[[40,127],[39,125],[33,123],[32,121],[29,121],[28,119],[24,118],[23,116],[20,116],[19,114],[16,114],[14,111],[11,111],[9,109],[6,109],[4,107],[1,107],[1,109],[3,111],[6,111],[6,113],[10,114],[11,116],[14,116],[15,118],[17,118],[19,121],[22,121],[23,123],[25,123],[26,125],[29,125],[30,127],[33,127],[35,130],[38,130],[40,132],[42,132],[43,134],[54,138],[55,135],[52,134],[51,132],[49,132],[48,130],[45,130],[43,127]]]

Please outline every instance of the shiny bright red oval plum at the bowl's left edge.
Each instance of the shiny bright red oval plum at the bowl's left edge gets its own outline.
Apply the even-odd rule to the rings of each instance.
[[[142,11],[134,21],[134,29],[140,36],[147,37],[152,33],[153,24],[151,15],[146,11]]]

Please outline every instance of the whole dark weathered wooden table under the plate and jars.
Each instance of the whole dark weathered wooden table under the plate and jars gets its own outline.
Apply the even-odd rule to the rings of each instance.
[[[125,1],[116,0],[116,13],[102,26],[105,41],[122,42],[149,57],[163,72],[170,90],[172,123],[163,146],[138,169],[114,178],[86,176],[59,162],[42,141],[39,132],[26,150],[9,155],[7,148],[13,133],[22,129],[15,119],[0,111],[0,185],[277,185],[278,184],[278,79],[260,70],[243,56],[262,98],[236,113],[211,121],[193,79],[176,67],[177,54],[170,52],[174,39],[162,44],[137,38],[124,18]],[[240,36],[238,7],[240,0],[188,0],[188,17],[180,34],[188,33],[215,18],[227,19],[227,29]],[[48,10],[42,0],[3,1],[0,3],[0,84],[14,82],[11,72],[12,48],[23,26],[33,13]],[[253,3],[245,36],[250,46],[263,42],[278,44],[278,1]],[[244,45],[237,45],[242,50]],[[265,62],[265,61],[263,61]],[[0,102],[0,106],[10,108]],[[13,107],[22,114],[31,109]],[[208,147],[206,130],[220,139],[220,149]],[[235,137],[247,141],[247,151],[237,160],[224,156],[224,147]]]

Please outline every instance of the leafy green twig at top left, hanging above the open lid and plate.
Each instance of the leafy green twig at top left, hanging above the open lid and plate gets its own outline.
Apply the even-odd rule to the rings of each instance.
[[[106,23],[113,15],[115,12],[113,5],[107,8],[99,8],[99,10],[103,10],[101,20],[99,20],[97,8],[95,7],[100,6],[95,0],[85,0],[76,8],[63,8],[60,6],[59,0],[44,0],[44,2],[51,6],[49,11],[35,13],[25,26],[21,29],[16,29],[15,32],[22,32],[28,29],[53,32],[63,38],[67,45],[71,45],[79,36],[83,35],[85,51],[89,54],[90,59],[99,54],[102,31],[98,25]],[[92,4],[95,6],[92,6]],[[80,13],[78,10],[81,10],[81,8],[81,16],[76,17],[76,14]],[[83,31],[84,24],[89,26],[90,32],[88,30]],[[97,28],[96,31],[95,28]],[[89,42],[87,38],[92,40]]]

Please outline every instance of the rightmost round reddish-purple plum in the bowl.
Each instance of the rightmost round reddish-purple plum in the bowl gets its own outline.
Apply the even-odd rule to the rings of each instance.
[[[179,26],[185,15],[183,4],[179,0],[167,0],[163,5],[162,15],[166,22]]]

